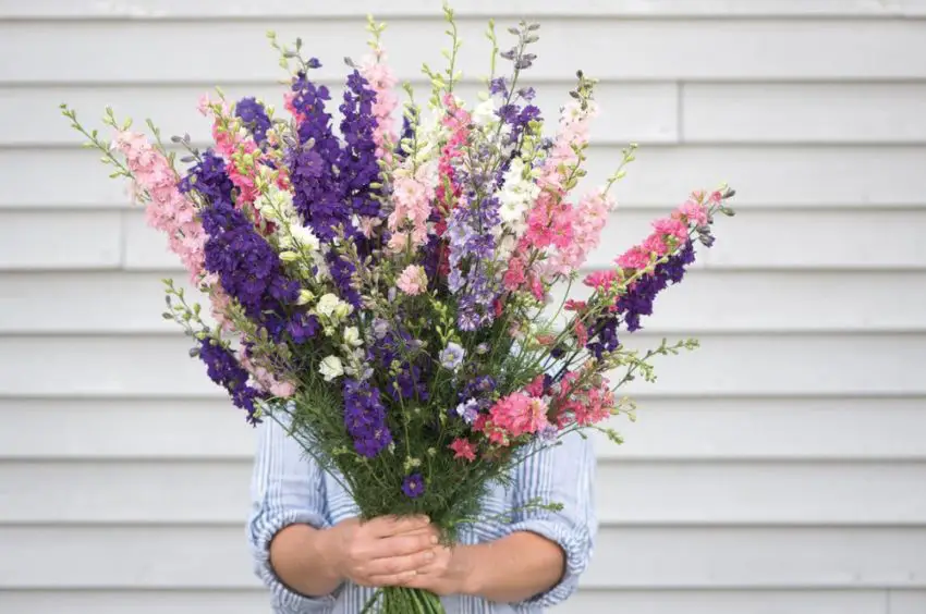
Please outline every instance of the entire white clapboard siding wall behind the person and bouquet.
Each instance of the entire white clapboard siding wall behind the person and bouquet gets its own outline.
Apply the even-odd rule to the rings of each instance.
[[[465,96],[492,15],[503,37],[541,17],[548,118],[575,69],[602,79],[584,186],[643,145],[589,266],[690,189],[738,191],[631,342],[703,346],[629,389],[624,445],[597,438],[600,541],[556,612],[926,612],[926,0],[456,4]],[[202,140],[212,85],[279,101],[266,29],[337,85],[366,12],[421,89],[444,42],[428,0],[0,0],[0,53],[28,58],[0,67],[0,612],[267,612],[254,432],[159,318],[158,279],[184,278],[163,238],[57,106]],[[194,39],[221,52],[176,53]]]

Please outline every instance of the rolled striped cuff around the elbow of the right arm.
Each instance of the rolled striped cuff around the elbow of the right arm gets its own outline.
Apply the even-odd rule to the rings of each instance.
[[[565,572],[560,581],[545,592],[513,604],[516,611],[533,611],[536,607],[552,607],[569,599],[578,588],[578,577],[588,567],[592,557],[592,535],[586,527],[575,527],[557,519],[531,518],[511,525],[509,531],[537,533],[559,544],[565,553]]]

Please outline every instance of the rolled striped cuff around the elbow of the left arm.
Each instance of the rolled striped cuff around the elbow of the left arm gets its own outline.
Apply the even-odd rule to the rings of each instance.
[[[334,605],[334,595],[307,597],[288,587],[270,564],[270,542],[273,537],[290,525],[309,525],[317,529],[326,527],[318,514],[288,511],[271,517],[264,516],[254,520],[249,527],[252,556],[257,577],[270,589],[273,611],[277,614],[314,614],[330,612]]]

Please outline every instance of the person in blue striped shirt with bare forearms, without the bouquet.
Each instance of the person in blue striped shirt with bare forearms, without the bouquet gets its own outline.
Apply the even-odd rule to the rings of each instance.
[[[389,586],[441,595],[449,613],[544,612],[575,591],[592,557],[595,458],[577,433],[521,464],[511,488],[483,504],[503,512],[543,496],[561,511],[483,521],[448,547],[425,516],[361,521],[349,494],[283,428],[260,430],[248,540],[280,614],[356,614]]]

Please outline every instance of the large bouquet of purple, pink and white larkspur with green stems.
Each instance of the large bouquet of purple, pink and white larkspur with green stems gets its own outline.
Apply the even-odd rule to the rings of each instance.
[[[114,136],[103,140],[62,110],[112,176],[131,180],[148,223],[208,297],[200,308],[166,280],[163,317],[183,327],[191,356],[247,421],[285,418],[363,517],[426,514],[452,542],[523,452],[586,429],[620,442],[602,422],[632,418],[634,406],[617,389],[637,374],[653,380],[654,356],[696,345],[663,341],[639,353],[621,339],[682,280],[695,243],[711,245],[714,217],[732,213],[733,193],[693,193],[613,268],[582,279],[586,299],[566,291],[552,304],[599,245],[610,191],[635,148],[604,186],[571,201],[585,175],[595,82],[577,73],[545,134],[534,89],[522,85],[539,26],[511,28],[513,46],[501,51],[490,23],[491,74],[470,106],[455,93],[460,40],[444,12],[449,66],[425,66],[425,105],[405,87],[401,126],[385,26],[373,21],[371,54],[348,61],[337,132],[331,94],[313,82],[319,60],[272,34],[290,72],[285,112],[204,97],[208,149],[188,136],[166,147],[148,121],[151,142],[110,109]],[[425,591],[377,597],[390,613],[442,611]]]

